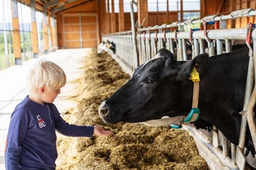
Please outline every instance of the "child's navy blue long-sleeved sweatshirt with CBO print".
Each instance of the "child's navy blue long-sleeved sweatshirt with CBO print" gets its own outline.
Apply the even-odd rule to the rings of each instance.
[[[4,154],[6,170],[56,169],[56,131],[65,136],[92,137],[93,126],[76,126],[61,118],[56,105],[28,98],[15,108]]]

